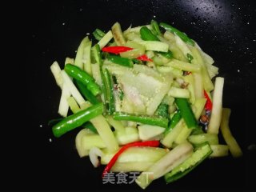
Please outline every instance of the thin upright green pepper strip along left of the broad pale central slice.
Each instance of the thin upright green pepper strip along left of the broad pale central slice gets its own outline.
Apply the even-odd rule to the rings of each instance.
[[[107,69],[103,70],[103,75],[106,81],[106,102],[109,104],[109,114],[113,114],[115,111],[113,78]]]

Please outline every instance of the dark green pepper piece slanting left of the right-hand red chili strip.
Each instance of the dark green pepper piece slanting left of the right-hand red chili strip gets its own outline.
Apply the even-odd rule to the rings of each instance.
[[[189,129],[198,128],[198,122],[194,117],[194,113],[190,107],[190,103],[186,98],[175,98],[175,103],[178,106],[178,110],[181,111],[182,118],[186,122],[186,126]]]

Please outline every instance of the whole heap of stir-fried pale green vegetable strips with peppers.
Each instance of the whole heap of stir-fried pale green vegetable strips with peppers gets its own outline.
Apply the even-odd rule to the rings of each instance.
[[[50,126],[57,138],[82,129],[78,154],[106,165],[103,178],[138,171],[145,189],[162,176],[167,183],[182,178],[206,158],[242,155],[230,110],[222,108],[224,78],[214,78],[218,67],[194,40],[155,20],[124,32],[116,22],[93,35],[97,43],[83,38],[64,70],[50,66],[62,89],[62,118]]]

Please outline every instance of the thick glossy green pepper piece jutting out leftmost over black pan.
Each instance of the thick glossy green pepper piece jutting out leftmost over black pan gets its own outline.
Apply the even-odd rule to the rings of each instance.
[[[98,103],[88,107],[86,110],[80,110],[76,114],[71,114],[52,127],[53,134],[56,138],[59,138],[62,134],[66,134],[66,132],[74,130],[78,126],[82,126],[83,123],[102,114],[102,111],[103,105]]]

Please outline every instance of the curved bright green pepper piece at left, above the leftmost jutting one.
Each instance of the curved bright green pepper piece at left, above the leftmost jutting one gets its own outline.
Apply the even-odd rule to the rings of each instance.
[[[64,70],[70,75],[70,77],[82,82],[82,84],[84,84],[92,94],[97,95],[101,93],[101,89],[95,82],[94,78],[92,78],[90,74],[86,73],[85,70],[81,70],[78,66],[71,64],[66,64]]]

